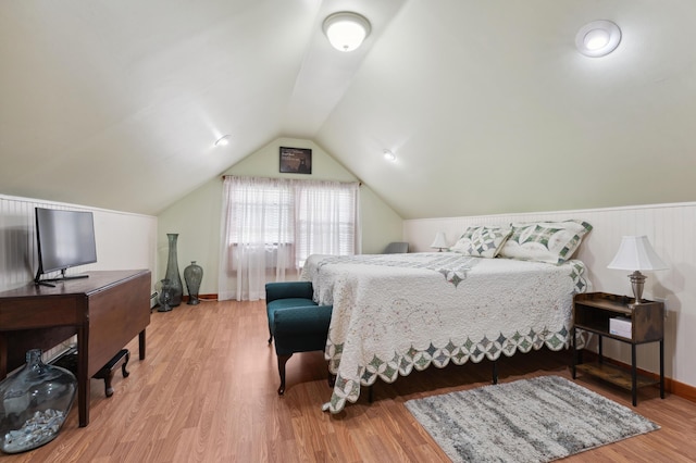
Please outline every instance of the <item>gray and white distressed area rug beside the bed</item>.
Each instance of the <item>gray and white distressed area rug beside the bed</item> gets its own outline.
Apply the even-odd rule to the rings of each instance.
[[[660,427],[559,376],[406,402],[455,462],[549,462]]]

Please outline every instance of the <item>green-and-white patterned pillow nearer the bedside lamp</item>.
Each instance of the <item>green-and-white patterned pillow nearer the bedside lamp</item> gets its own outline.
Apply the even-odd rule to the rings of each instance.
[[[510,224],[501,258],[562,264],[573,256],[592,225],[581,221]]]

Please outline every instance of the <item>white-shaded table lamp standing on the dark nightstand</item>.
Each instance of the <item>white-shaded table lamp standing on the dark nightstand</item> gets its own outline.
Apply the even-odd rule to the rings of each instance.
[[[643,285],[645,275],[641,271],[656,271],[668,268],[667,264],[655,252],[647,236],[624,236],[621,238],[619,251],[607,268],[633,271],[629,275],[633,287],[635,303],[643,300]]]

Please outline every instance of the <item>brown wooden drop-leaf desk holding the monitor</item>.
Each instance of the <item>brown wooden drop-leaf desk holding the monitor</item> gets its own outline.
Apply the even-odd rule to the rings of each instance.
[[[27,350],[47,350],[77,335],[79,426],[87,426],[92,375],[136,335],[145,359],[150,286],[150,272],[137,270],[0,292],[0,378],[25,363]]]

